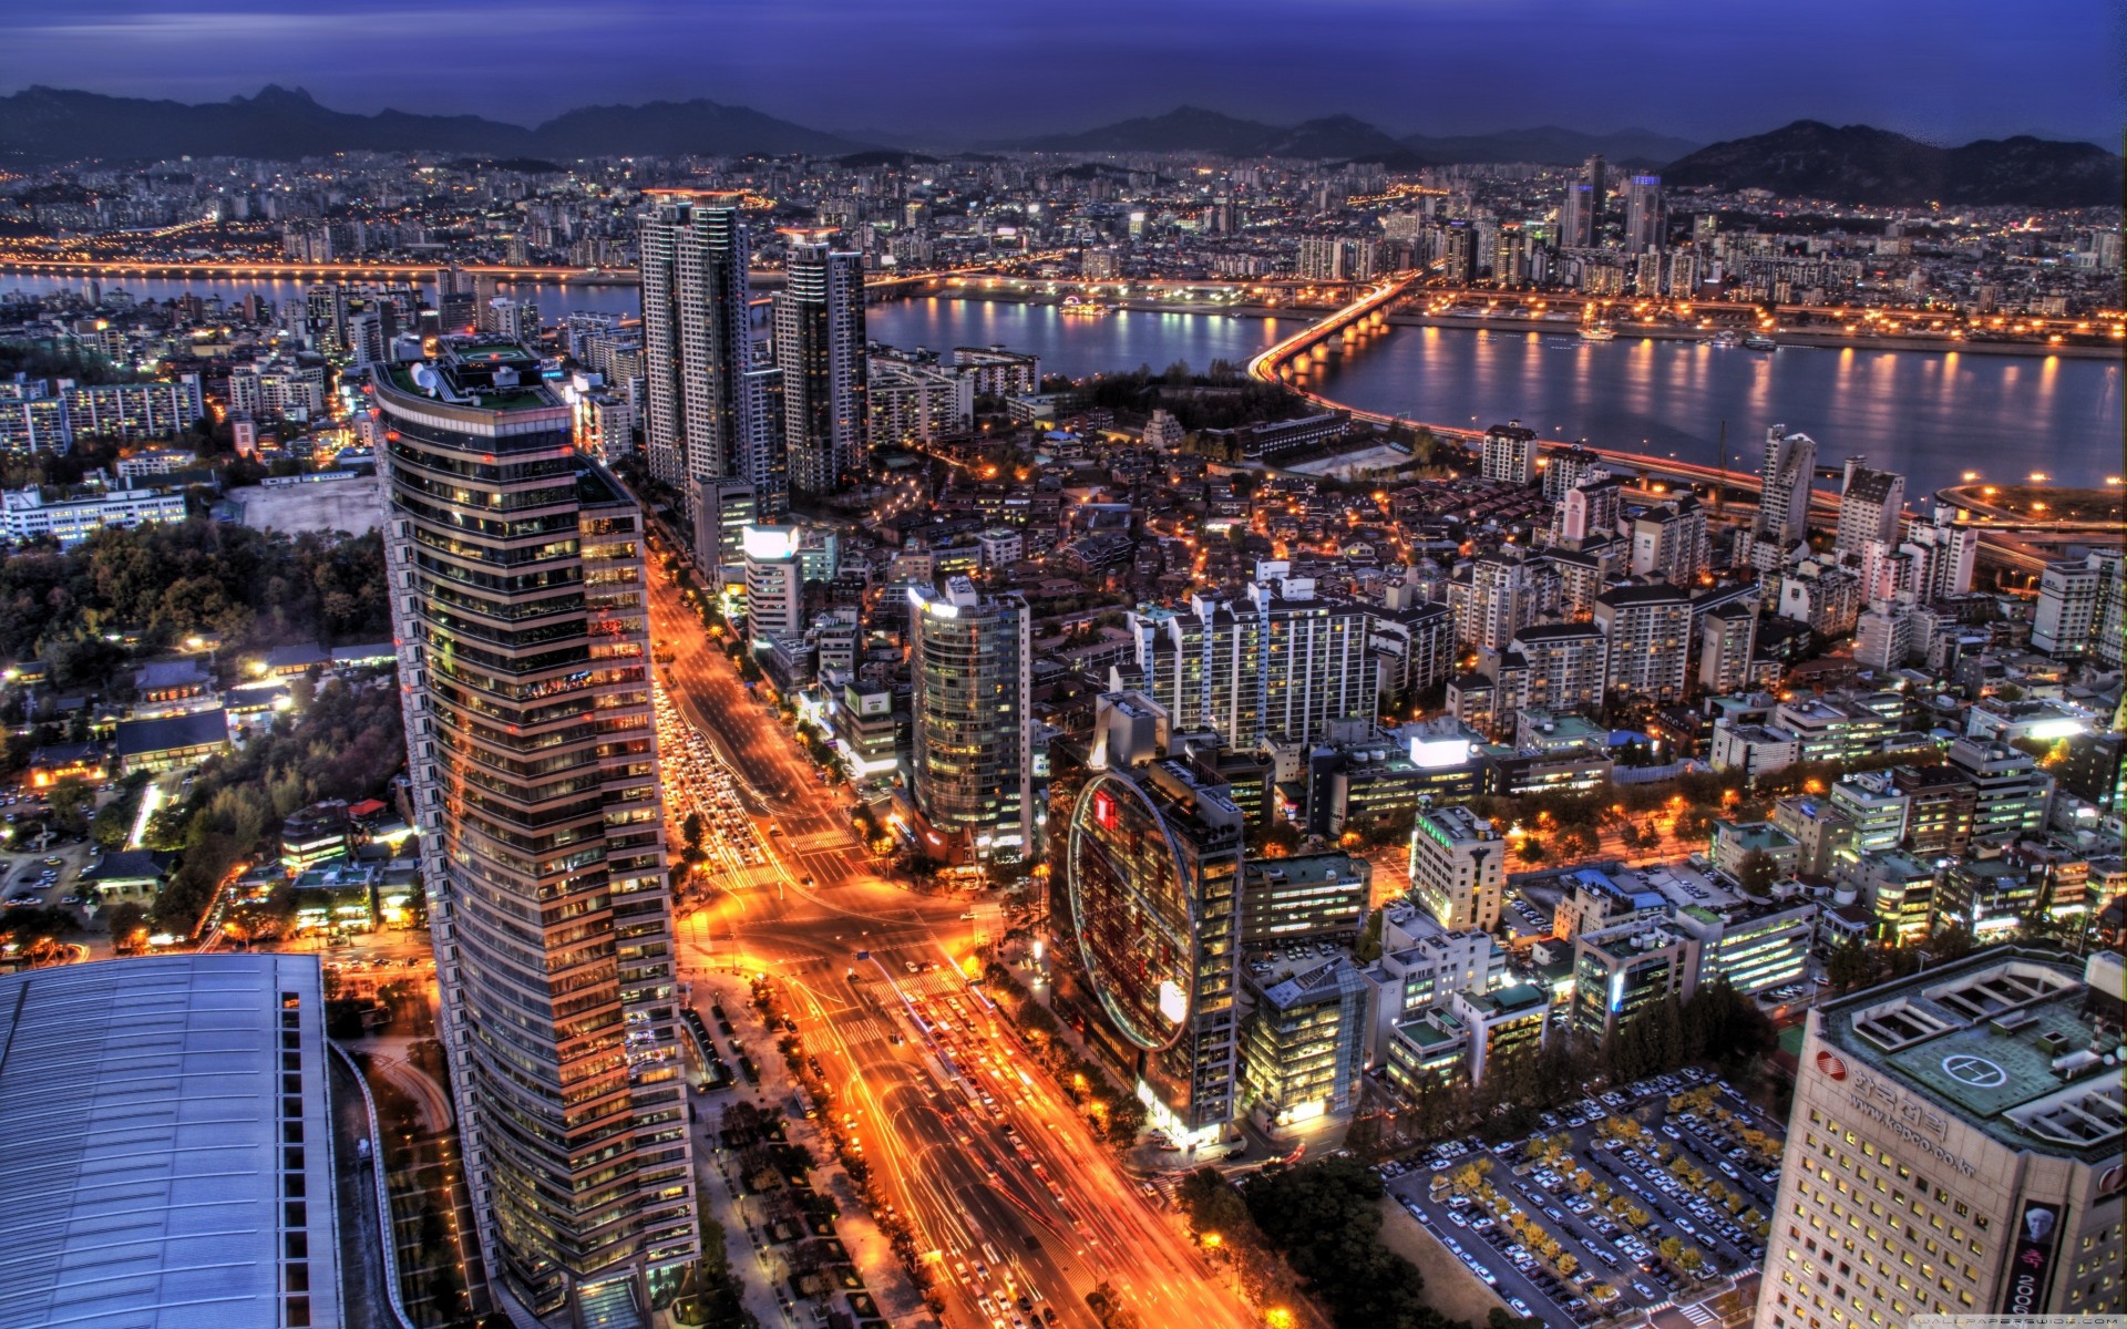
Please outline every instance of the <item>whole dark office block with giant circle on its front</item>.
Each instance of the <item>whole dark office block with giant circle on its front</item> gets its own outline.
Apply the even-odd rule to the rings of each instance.
[[[1178,1144],[1238,1110],[1242,812],[1180,761],[1095,774],[1072,806],[1064,880],[1087,1038]],[[1078,982],[1059,980],[1059,999]]]

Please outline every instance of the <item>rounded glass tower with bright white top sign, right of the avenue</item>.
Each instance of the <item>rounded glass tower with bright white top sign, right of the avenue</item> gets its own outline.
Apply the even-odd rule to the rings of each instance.
[[[966,576],[910,589],[912,778],[932,829],[976,859],[1034,846],[1027,604]]]

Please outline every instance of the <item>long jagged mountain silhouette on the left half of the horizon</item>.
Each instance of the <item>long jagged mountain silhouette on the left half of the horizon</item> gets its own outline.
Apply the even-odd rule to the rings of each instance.
[[[28,87],[0,98],[0,162],[81,157],[317,157],[340,151],[445,151],[481,157],[851,153],[868,145],[747,106],[651,102],[583,106],[536,130],[479,115],[353,115],[308,91],[268,85],[253,98],[191,106]]]

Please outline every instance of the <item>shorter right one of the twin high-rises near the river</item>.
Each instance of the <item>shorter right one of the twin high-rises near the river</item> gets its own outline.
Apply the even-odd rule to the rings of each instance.
[[[830,493],[864,466],[864,255],[791,245],[774,330],[789,483]]]

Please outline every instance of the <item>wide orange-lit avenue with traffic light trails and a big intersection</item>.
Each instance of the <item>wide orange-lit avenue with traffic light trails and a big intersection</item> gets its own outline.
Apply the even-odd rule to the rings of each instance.
[[[836,791],[655,566],[651,583],[666,691],[755,804],[778,870],[776,889],[725,891],[685,916],[683,963],[783,982],[806,1053],[836,1087],[834,1125],[864,1144],[912,1221],[947,1323],[1032,1325],[1025,1295],[1036,1314],[1095,1329],[1085,1293],[1110,1282],[1144,1323],[1255,1325],[961,978],[974,940],[966,899],[876,874]]]

